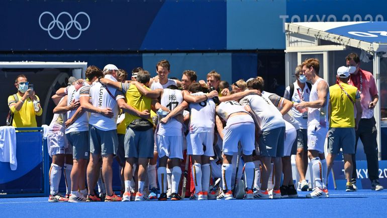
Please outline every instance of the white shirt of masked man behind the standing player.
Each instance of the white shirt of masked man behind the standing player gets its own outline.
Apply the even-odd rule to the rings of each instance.
[[[288,99],[289,101],[300,103],[301,100],[303,101],[309,101],[309,95],[310,90],[307,84],[304,86],[304,90],[300,88],[300,86],[297,84],[297,81],[293,83],[294,85],[294,92],[293,96],[289,96],[290,94],[290,87],[286,87],[284,98]],[[299,110],[297,110],[296,107],[292,107],[291,114],[293,114],[293,117],[295,121],[299,124],[300,128],[306,129],[308,125],[308,112],[300,113]]]

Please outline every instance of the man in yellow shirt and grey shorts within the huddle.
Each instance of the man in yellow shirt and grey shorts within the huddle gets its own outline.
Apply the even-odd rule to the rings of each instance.
[[[137,73],[137,82],[142,86],[149,85],[150,74],[146,70],[140,70]],[[152,99],[143,96],[135,85],[129,83],[113,82],[107,79],[100,80],[107,86],[112,86],[118,89],[116,93],[117,103],[119,107],[125,111],[125,125],[126,133],[124,139],[125,146],[125,192],[122,197],[122,201],[130,201],[131,199],[131,186],[130,182],[133,177],[133,165],[137,164],[138,167],[138,192],[136,193],[135,201],[148,200],[148,196],[143,194],[145,178],[147,173],[149,158],[153,157],[153,124],[150,118],[149,111],[151,110]],[[148,87],[146,89],[149,90]],[[125,95],[125,97],[124,97]],[[125,99],[127,103],[125,103]],[[141,119],[148,120],[148,129],[135,129],[134,124],[136,120]],[[146,122],[146,121],[145,121]],[[132,127],[131,127],[132,126]],[[140,140],[141,139],[141,140]]]

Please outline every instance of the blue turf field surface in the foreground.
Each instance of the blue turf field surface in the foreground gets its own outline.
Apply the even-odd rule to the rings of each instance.
[[[386,217],[387,190],[330,190],[329,198],[49,203],[47,197],[1,198],[0,217]]]

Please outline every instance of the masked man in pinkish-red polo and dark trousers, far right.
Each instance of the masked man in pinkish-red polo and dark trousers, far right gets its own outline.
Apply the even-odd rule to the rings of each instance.
[[[375,118],[373,116],[373,108],[379,100],[375,80],[372,74],[360,68],[360,58],[356,53],[350,53],[345,58],[347,66],[355,66],[356,70],[349,78],[349,85],[355,86],[360,93],[360,103],[363,109],[359,128],[356,131],[355,154],[357,141],[359,137],[363,142],[364,153],[367,158],[368,178],[371,180],[372,190],[382,190],[383,186],[379,183],[379,163],[377,160],[377,132],[375,126]],[[356,184],[356,155],[352,155],[353,172],[352,182]]]

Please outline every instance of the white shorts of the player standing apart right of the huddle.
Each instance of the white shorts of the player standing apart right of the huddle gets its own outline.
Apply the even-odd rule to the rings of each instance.
[[[324,153],[324,143],[329,128],[320,125],[308,125],[308,150]]]

